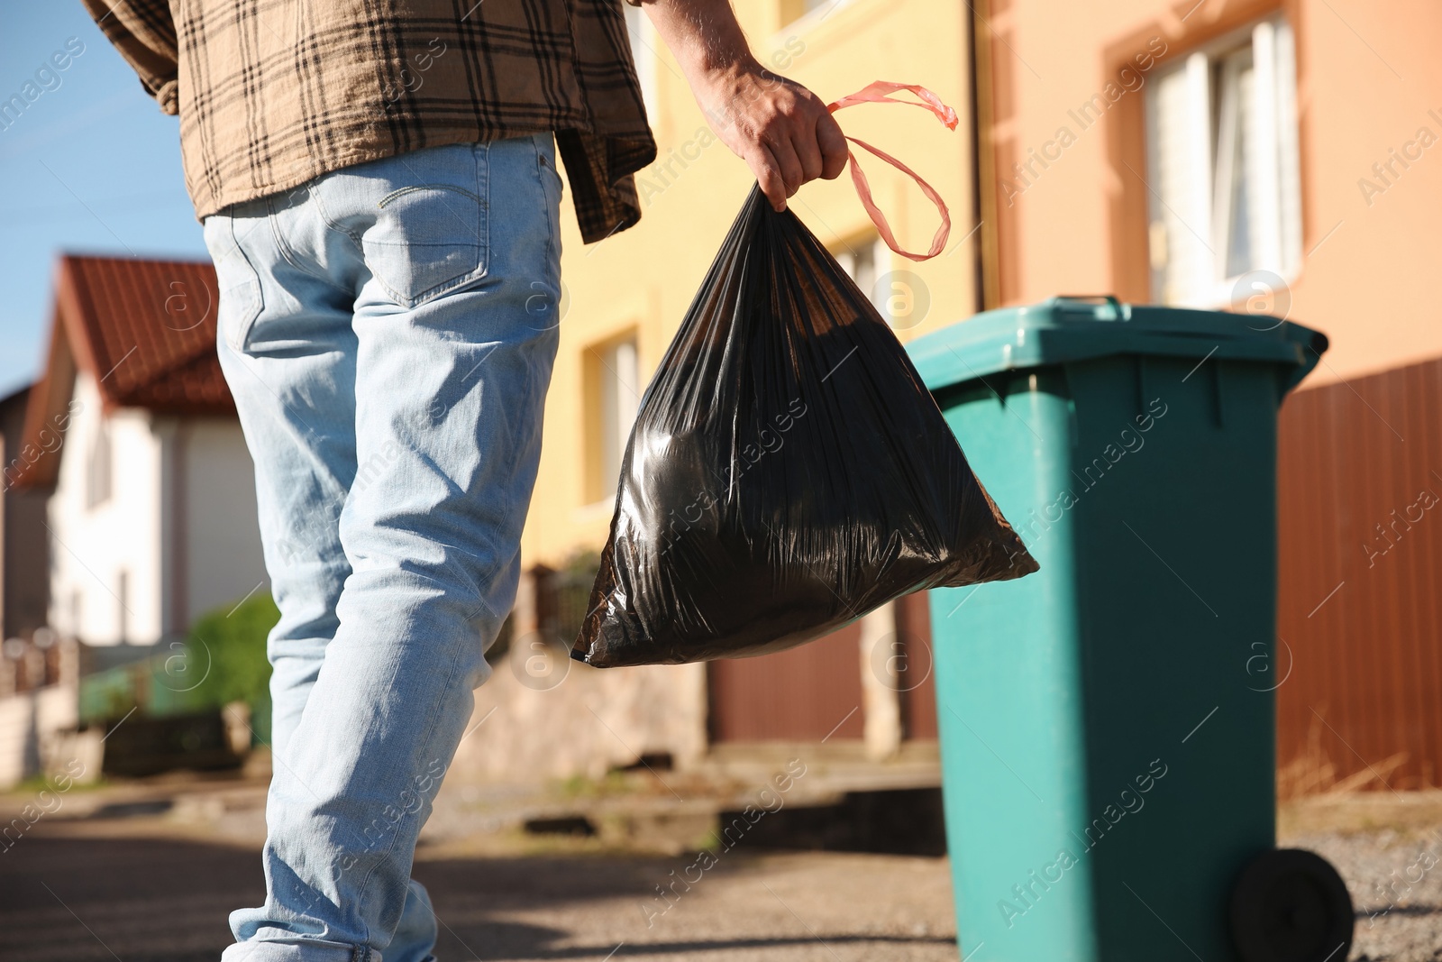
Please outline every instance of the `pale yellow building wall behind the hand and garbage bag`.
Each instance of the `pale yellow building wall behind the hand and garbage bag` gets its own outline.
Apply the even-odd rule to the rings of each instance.
[[[970,212],[970,141],[966,111],[966,7],[955,0],[839,0],[783,23],[796,0],[735,0],[751,48],[777,72],[825,100],[875,79],[917,82],[956,107],[962,123],[946,131],[910,107],[862,105],[838,114],[846,133],[893,153],[926,177],[953,216],[947,252],[926,264],[893,258],[884,270],[911,271],[930,307],[903,339],[972,313],[972,245],[960,242],[975,224]],[[541,475],[522,541],[523,564],[558,565],[577,550],[600,548],[611,499],[585,503],[588,348],[636,330],[642,379],[649,381],[709,267],[753,179],[746,164],[708,133],[681,71],[659,39],[652,127],[658,163],[637,175],[642,222],[601,244],[583,245],[570,211],[562,212],[568,291],[561,348],[545,411]],[[900,173],[861,153],[877,202],[903,247],[926,250],[936,228],[930,202]],[[669,162],[669,169],[668,169]],[[871,229],[849,175],[808,185],[792,199],[802,221],[839,250]],[[593,358],[594,365],[594,358]],[[645,389],[645,384],[636,385]]]

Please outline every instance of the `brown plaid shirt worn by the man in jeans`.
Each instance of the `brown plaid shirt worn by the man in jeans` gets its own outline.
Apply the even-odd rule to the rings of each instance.
[[[587,242],[656,157],[619,0],[84,0],[167,114],[196,216],[441,144],[555,131]]]

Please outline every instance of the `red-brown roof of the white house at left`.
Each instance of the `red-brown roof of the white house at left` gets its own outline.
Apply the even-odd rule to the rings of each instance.
[[[99,387],[104,410],[146,408],[174,415],[232,415],[235,402],[215,355],[215,268],[205,261],[120,257],[61,258],[45,371],[30,392],[25,437],[35,450],[42,431],[63,418],[78,371]],[[23,449],[22,449],[23,450]],[[50,454],[7,466],[23,486],[55,482]]]

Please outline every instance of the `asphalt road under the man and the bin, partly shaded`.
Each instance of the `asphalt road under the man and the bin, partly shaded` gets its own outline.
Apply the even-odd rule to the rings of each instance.
[[[76,795],[0,845],[0,962],[219,958],[228,913],[262,900],[264,792],[153,796]],[[12,813],[0,805],[0,821]],[[1442,961],[1442,792],[1282,815],[1282,844],[1322,852],[1347,880],[1351,962]],[[435,900],[443,962],[957,962],[945,858],[738,847],[668,907],[656,887],[694,855],[474,832],[454,812],[433,822],[450,831],[423,835],[415,875]]]

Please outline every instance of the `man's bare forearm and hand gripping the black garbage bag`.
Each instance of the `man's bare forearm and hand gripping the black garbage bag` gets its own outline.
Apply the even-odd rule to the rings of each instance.
[[[808,180],[841,175],[846,138],[809,89],[771,74],[746,43],[731,0],[640,0],[691,84],[711,130],[777,211]]]

